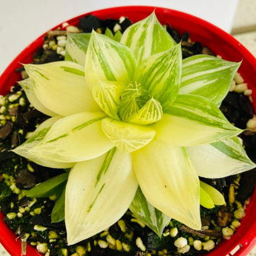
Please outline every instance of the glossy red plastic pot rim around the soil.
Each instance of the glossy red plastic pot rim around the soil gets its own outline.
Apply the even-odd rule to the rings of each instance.
[[[256,59],[250,52],[242,46],[236,39],[230,34],[217,28],[200,18],[194,17],[193,15],[178,12],[177,10],[170,10],[160,7],[150,6],[129,6],[129,7],[114,7],[110,9],[96,10],[89,14],[97,15],[97,17],[105,18],[119,18],[122,15],[127,16],[132,22],[142,20],[155,12],[159,21],[162,24],[167,24],[175,28],[180,33],[185,31],[190,32],[192,41],[199,41],[203,46],[208,46],[210,49],[218,55],[221,55],[224,59],[233,62],[240,62],[242,60],[239,72],[247,82],[249,88],[254,89],[253,97],[256,98]],[[86,14],[84,14],[86,15]],[[79,18],[75,17],[67,22],[70,25],[78,25]],[[60,26],[60,25],[59,25]],[[57,28],[58,26],[55,26]],[[53,30],[55,29],[53,28]],[[0,92],[6,94],[10,86],[13,86],[16,81],[19,81],[20,74],[15,73],[17,68],[20,68],[20,63],[30,63],[34,52],[42,46],[43,35],[36,39],[26,47],[16,58],[10,63],[7,69],[2,73],[0,77]],[[254,106],[256,106],[254,102]],[[245,256],[247,255],[254,244],[256,243],[256,190],[252,195],[251,202],[246,209],[246,217],[242,219],[241,226],[238,228],[236,233],[228,241],[223,241],[218,245],[212,252],[209,252],[207,256]],[[2,214],[0,213],[0,242],[9,251],[12,256],[20,256],[21,254],[21,243],[15,234],[7,228],[6,224],[2,221]],[[38,256],[38,252],[31,247],[27,247],[28,256]]]

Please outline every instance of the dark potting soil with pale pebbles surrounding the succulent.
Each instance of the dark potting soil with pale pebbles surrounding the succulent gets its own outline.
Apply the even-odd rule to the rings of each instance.
[[[123,32],[131,22],[127,18],[100,20],[89,15],[81,18],[78,28],[84,32],[90,32],[94,28],[104,33],[108,27],[114,33],[116,24]],[[182,41],[183,58],[195,54],[215,55],[199,42],[191,42],[188,33],[180,35],[169,25],[167,31],[176,42]],[[52,31],[44,38],[44,44],[50,45],[50,41],[57,42],[59,32]],[[65,35],[65,32],[61,33]],[[57,53],[57,47],[42,47],[34,54],[34,63],[53,62],[63,58],[63,55]],[[23,68],[18,71],[23,71]],[[23,73],[23,77],[25,76]],[[33,199],[27,198],[25,194],[26,190],[36,184],[64,171],[39,166],[10,151],[25,142],[26,136],[49,117],[30,106],[25,93],[18,85],[12,87],[9,94],[0,98],[0,105],[0,206],[5,216],[4,221],[23,242],[36,246],[40,252],[48,256],[183,255],[183,252],[178,252],[174,245],[178,238],[186,239],[190,245],[185,255],[201,255],[213,249],[215,244],[222,241],[223,236],[228,238],[244,216],[244,203],[255,186],[255,170],[227,178],[202,179],[221,191],[226,200],[226,206],[217,206],[214,209],[201,207],[202,230],[191,230],[188,226],[172,220],[160,239],[136,220],[128,210],[121,220],[108,230],[74,246],[67,246],[65,223],[50,222],[54,198]],[[230,92],[226,96],[220,109],[230,122],[242,129],[246,128],[247,121],[254,115],[254,107],[249,98],[236,92]],[[247,154],[252,161],[256,161],[255,132],[243,132],[241,138]],[[142,240],[146,251],[143,252],[137,246],[137,238]],[[193,246],[194,241],[198,241],[199,244],[201,242],[202,248]]]

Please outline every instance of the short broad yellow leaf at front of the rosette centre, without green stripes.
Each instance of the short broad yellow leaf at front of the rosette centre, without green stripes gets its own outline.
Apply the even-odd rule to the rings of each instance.
[[[102,130],[106,137],[123,152],[142,148],[154,138],[156,131],[152,126],[138,126],[112,118],[102,120]]]

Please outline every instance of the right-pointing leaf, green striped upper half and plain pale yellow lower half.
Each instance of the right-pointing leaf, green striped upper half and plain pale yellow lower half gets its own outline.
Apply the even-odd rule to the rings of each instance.
[[[214,143],[242,132],[216,105],[198,95],[178,95],[164,113],[155,125],[156,137],[178,146]]]

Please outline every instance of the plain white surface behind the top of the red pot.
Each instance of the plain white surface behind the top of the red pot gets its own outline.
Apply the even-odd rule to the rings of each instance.
[[[55,25],[113,6],[169,7],[230,32],[238,0],[0,0],[0,74],[30,42]],[[125,3],[125,4],[124,4]]]

